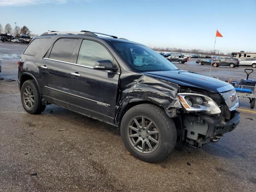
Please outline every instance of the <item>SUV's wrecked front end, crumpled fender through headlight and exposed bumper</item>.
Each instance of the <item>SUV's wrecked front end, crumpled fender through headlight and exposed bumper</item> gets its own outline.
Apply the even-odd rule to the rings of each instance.
[[[209,142],[218,142],[240,121],[240,115],[235,110],[239,105],[238,98],[235,96],[235,101],[229,106],[230,97],[224,96],[227,90],[222,90],[224,94],[191,90],[168,80],[126,70],[120,75],[119,85],[116,124],[120,124],[130,107],[145,102],[155,104],[174,120],[178,141],[202,147]]]

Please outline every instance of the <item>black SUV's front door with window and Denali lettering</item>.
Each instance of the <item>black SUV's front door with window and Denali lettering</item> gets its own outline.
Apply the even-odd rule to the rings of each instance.
[[[69,79],[70,108],[96,119],[114,122],[119,72],[93,69],[99,60],[117,62],[108,49],[94,40],[81,40]]]

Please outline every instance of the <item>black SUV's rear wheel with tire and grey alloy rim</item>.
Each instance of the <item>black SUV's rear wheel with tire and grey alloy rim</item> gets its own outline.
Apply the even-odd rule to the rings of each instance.
[[[34,80],[27,80],[22,84],[20,98],[24,110],[30,114],[40,114],[46,107],[42,105],[41,97]]]

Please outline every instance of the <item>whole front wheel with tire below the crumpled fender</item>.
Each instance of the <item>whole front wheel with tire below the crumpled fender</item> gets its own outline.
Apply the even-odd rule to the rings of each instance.
[[[126,149],[146,162],[159,162],[166,158],[177,139],[173,120],[152,104],[134,106],[124,114],[121,136]]]

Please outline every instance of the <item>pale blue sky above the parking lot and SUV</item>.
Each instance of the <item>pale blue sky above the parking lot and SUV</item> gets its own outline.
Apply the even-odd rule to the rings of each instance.
[[[256,0],[0,0],[0,24],[89,30],[150,47],[256,52]]]

